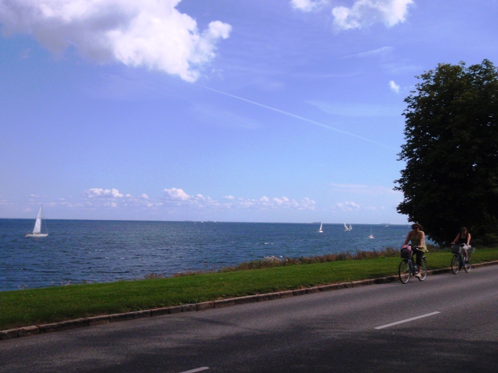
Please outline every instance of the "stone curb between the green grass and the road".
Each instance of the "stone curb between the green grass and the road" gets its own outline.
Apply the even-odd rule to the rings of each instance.
[[[495,265],[495,264],[498,264],[498,260],[492,261],[492,262],[472,264],[472,267],[473,268],[487,267],[487,266],[491,266],[491,265]],[[448,273],[448,272],[451,272],[451,268],[434,269],[432,271],[427,271],[427,274],[428,275],[438,275],[441,273]],[[237,297],[237,298],[227,298],[227,299],[220,299],[220,300],[215,300],[215,301],[183,304],[180,306],[146,309],[143,311],[115,313],[112,315],[102,315],[102,316],[93,316],[93,317],[83,317],[83,318],[78,318],[75,320],[66,320],[66,321],[61,321],[61,322],[54,322],[51,324],[24,326],[24,327],[16,328],[16,329],[0,330],[0,340],[25,337],[28,335],[35,335],[35,334],[50,333],[50,332],[54,332],[54,331],[74,329],[74,328],[79,328],[79,327],[83,327],[83,326],[91,326],[91,325],[107,324],[110,322],[134,320],[134,319],[144,318],[144,317],[161,316],[161,315],[168,315],[168,314],[174,314],[174,313],[179,313],[179,312],[203,311],[203,310],[210,309],[210,308],[230,307],[230,306],[234,306],[237,304],[262,302],[262,301],[272,300],[272,299],[281,299],[281,298],[288,298],[288,297],[304,295],[304,294],[313,294],[313,293],[318,293],[320,291],[330,291],[330,290],[336,290],[336,289],[344,289],[344,288],[366,286],[366,285],[373,285],[373,284],[387,284],[387,283],[393,282],[397,279],[398,279],[398,276],[380,277],[380,278],[374,278],[374,279],[369,279],[369,280],[342,282],[339,284],[328,284],[328,285],[313,286],[313,287],[304,288],[304,289],[279,291],[279,292],[275,292],[275,293],[247,295],[247,296]]]

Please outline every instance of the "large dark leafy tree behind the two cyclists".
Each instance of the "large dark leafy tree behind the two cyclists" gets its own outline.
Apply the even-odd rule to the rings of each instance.
[[[461,226],[474,243],[498,242],[498,69],[439,64],[421,79],[403,113],[406,161],[398,212],[438,244]]]

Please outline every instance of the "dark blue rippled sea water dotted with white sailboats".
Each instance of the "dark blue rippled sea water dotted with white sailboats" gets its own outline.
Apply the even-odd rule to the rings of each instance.
[[[408,225],[0,219],[0,291],[140,279],[263,259],[400,247]],[[368,235],[374,239],[368,239]]]

